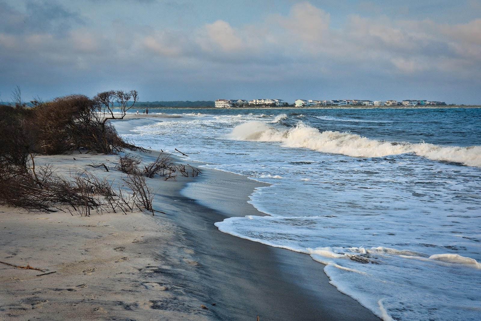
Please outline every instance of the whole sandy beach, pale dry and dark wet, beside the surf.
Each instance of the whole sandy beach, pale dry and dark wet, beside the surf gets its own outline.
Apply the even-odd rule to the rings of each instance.
[[[63,175],[89,168],[118,180],[118,157],[38,156],[37,163]],[[149,162],[156,153],[142,157]],[[110,171],[87,167],[92,163]],[[310,257],[218,231],[214,223],[224,218],[261,215],[246,201],[262,184],[202,171],[177,181],[150,179],[158,189],[154,208],[165,212],[155,216],[2,207],[0,261],[39,270],[0,264],[0,319],[379,320],[329,284]],[[189,182],[195,188],[181,193]]]

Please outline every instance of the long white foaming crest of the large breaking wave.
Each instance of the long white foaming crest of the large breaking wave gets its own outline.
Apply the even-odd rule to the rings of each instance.
[[[284,131],[263,122],[248,122],[233,128],[228,138],[241,141],[278,141],[285,147],[304,147],[318,152],[354,157],[415,153],[432,160],[481,167],[481,146],[459,147],[424,142],[377,141],[347,132],[330,130],[320,132],[302,122]]]

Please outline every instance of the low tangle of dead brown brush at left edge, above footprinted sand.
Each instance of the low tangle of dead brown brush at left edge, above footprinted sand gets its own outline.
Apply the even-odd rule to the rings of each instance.
[[[136,204],[125,186],[114,189],[113,182],[100,180],[88,171],[70,179],[54,174],[51,166],[36,171],[0,175],[0,204],[33,212],[56,210],[90,216],[91,212],[133,212]]]

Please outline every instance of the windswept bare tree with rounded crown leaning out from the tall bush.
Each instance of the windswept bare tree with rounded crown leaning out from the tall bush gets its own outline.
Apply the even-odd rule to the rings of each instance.
[[[102,126],[105,127],[109,119],[124,119],[127,111],[137,102],[138,96],[137,90],[109,90],[98,93],[93,100],[104,114]],[[114,114],[115,107],[120,111],[120,115]]]

